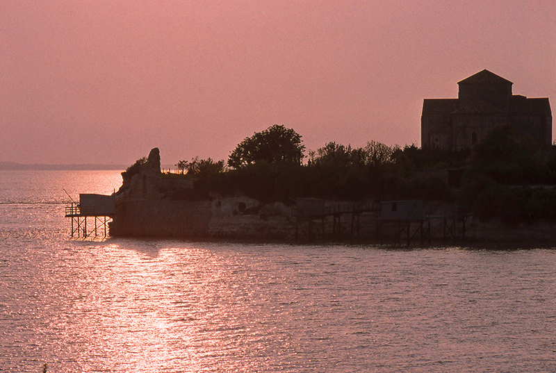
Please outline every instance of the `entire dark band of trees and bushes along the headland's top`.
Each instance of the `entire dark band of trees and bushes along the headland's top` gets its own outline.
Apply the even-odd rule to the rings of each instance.
[[[275,125],[245,138],[227,162],[180,160],[181,177],[193,179],[195,187],[177,191],[174,199],[237,194],[285,204],[298,197],[434,199],[468,206],[485,219],[555,219],[546,208],[556,207],[556,191],[546,187],[556,185],[554,148],[540,148],[501,126],[462,151],[369,141],[364,147],[329,142],[306,152],[301,135]],[[463,170],[461,188],[449,188],[447,169]]]

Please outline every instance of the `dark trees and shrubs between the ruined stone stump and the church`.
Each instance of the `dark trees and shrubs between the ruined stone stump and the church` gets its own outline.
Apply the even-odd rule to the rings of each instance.
[[[182,191],[177,199],[244,194],[261,201],[292,204],[297,197],[347,201],[362,199],[445,199],[450,190],[429,157],[415,145],[400,148],[370,141],[365,147],[329,142],[316,151],[304,152],[301,135],[284,126],[271,126],[245,138],[231,152],[227,163],[207,158],[180,160],[176,166],[195,180],[195,189]],[[443,164],[454,165],[460,154]],[[459,158],[458,158],[459,157]]]

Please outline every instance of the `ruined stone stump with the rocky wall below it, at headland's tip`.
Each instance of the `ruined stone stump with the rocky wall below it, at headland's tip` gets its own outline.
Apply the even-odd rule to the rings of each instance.
[[[123,175],[111,235],[131,237],[290,239],[295,219],[284,204],[263,205],[247,197],[172,200],[193,190],[193,181],[161,174],[158,148],[135,173]]]

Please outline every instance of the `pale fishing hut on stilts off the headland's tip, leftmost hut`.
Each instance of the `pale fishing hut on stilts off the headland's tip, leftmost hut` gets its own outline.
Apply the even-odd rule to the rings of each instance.
[[[71,196],[70,199],[72,204],[65,207],[65,217],[72,219],[72,237],[88,238],[93,234],[95,237],[98,235],[107,237],[108,223],[112,221],[115,214],[115,196],[79,194],[79,203]]]

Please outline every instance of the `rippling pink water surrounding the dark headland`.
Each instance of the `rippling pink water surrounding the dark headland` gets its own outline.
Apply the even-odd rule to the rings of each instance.
[[[72,240],[119,172],[0,172],[0,370],[556,372],[556,251]]]

